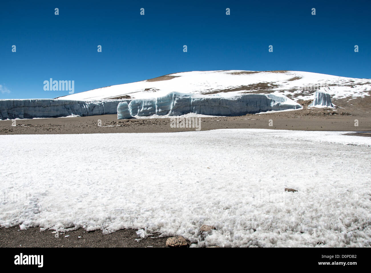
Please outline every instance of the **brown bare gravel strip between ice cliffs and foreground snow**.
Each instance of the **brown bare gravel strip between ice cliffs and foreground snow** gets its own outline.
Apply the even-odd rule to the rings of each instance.
[[[279,113],[248,114],[238,117],[202,117],[201,130],[215,129],[282,129],[308,131],[371,131],[371,116],[352,108],[309,108]],[[269,120],[273,126],[269,126]],[[354,126],[355,119],[358,127]],[[98,120],[102,121],[99,127]],[[193,128],[171,128],[169,118],[117,120],[117,115],[68,118],[39,118],[0,121],[0,134],[92,134],[92,133],[160,133],[194,131]]]

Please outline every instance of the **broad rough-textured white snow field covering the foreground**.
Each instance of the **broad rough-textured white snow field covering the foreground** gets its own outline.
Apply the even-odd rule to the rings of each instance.
[[[142,228],[192,246],[370,246],[371,138],[342,133],[0,136],[0,224]],[[203,239],[202,224],[217,229]]]

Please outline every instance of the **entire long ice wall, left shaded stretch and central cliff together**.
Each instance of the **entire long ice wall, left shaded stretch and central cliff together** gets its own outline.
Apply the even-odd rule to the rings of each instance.
[[[0,100],[0,119],[51,118],[116,114],[118,119],[135,116],[241,116],[270,110],[298,109],[295,101],[277,94],[199,95],[180,92],[157,98],[75,101],[60,99]]]

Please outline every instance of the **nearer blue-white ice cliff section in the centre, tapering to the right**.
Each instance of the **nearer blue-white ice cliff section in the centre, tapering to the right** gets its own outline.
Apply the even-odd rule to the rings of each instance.
[[[181,116],[188,113],[212,116],[241,116],[269,110],[298,109],[302,106],[283,95],[239,94],[233,96],[196,95],[171,92],[153,99],[135,99],[120,103],[118,119],[134,116]]]

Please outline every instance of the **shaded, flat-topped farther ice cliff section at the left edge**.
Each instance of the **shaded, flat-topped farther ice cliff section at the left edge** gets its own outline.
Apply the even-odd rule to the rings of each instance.
[[[116,114],[117,105],[122,101],[130,100],[0,100],[0,119]]]

